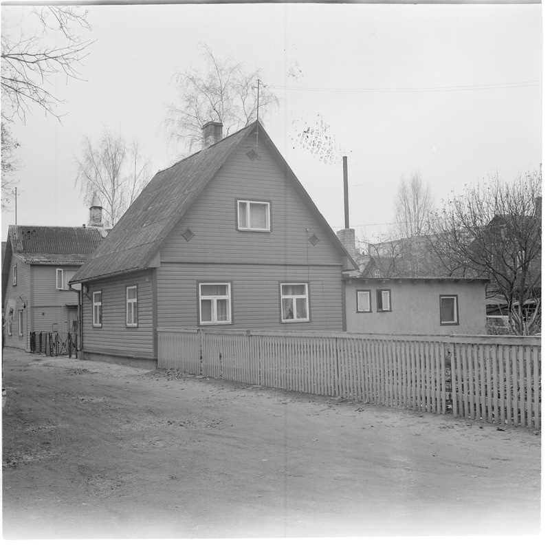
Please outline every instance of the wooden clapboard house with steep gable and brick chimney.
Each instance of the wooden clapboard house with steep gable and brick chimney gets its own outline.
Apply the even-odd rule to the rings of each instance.
[[[78,270],[83,358],[155,367],[157,328],[339,330],[353,259],[259,122],[159,171]]]

